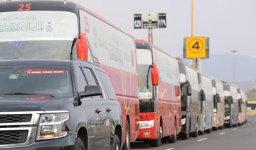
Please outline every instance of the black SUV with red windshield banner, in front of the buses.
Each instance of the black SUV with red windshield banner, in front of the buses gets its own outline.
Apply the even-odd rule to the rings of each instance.
[[[95,64],[3,61],[0,83],[0,149],[122,147],[122,110]]]

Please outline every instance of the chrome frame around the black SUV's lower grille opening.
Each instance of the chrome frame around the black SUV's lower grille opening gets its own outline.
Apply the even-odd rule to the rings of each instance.
[[[37,130],[37,127],[11,127],[11,128],[0,128],[0,131],[21,131],[21,130],[28,130],[28,137],[26,142],[20,144],[4,144],[0,145],[1,148],[8,148],[8,147],[16,147],[16,146],[27,146],[28,144],[32,144],[35,140],[33,136],[33,132]]]

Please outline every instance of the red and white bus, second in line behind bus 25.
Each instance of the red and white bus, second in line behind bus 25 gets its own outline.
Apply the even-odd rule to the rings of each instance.
[[[151,146],[176,142],[181,132],[181,91],[176,57],[136,40],[139,74],[139,137]]]

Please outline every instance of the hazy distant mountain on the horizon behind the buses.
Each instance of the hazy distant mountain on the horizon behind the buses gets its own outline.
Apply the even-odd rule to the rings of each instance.
[[[211,54],[210,59],[202,60],[202,70],[216,79],[233,81],[233,54]],[[256,58],[235,56],[235,81],[256,88]]]

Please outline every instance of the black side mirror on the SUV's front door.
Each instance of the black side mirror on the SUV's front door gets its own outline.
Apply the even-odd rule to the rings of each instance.
[[[80,97],[102,96],[102,89],[100,86],[85,86],[85,91],[80,92]]]

